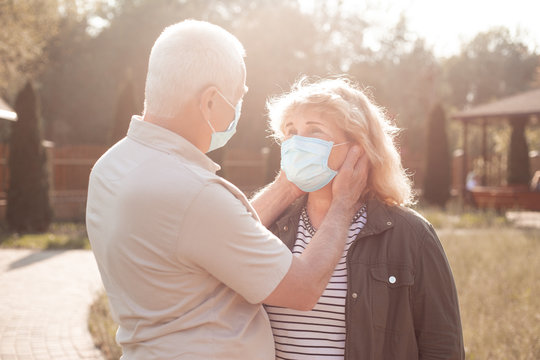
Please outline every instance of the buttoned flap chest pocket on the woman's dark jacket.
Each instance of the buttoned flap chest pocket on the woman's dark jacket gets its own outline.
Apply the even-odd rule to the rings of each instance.
[[[391,333],[413,330],[410,288],[414,274],[409,267],[384,264],[370,269],[373,324]]]

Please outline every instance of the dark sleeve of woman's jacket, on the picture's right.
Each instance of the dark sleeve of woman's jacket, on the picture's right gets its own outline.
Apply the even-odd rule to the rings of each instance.
[[[465,359],[454,278],[433,227],[427,226],[411,292],[419,359]]]

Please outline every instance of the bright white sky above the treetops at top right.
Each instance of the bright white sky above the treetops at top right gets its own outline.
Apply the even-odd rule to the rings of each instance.
[[[314,2],[300,0],[310,11]],[[451,56],[460,51],[461,44],[480,32],[504,26],[527,45],[540,50],[540,0],[341,0],[351,15],[358,14],[377,24],[392,27],[402,13],[410,31],[424,38],[437,56]],[[327,1],[329,6],[337,0]],[[384,36],[364,34],[367,44]],[[376,47],[376,46],[375,46]]]

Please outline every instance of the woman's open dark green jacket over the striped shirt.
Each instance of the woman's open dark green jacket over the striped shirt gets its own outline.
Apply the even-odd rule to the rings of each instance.
[[[289,248],[299,199],[270,227]],[[456,287],[431,224],[370,200],[347,255],[346,360],[464,359]]]

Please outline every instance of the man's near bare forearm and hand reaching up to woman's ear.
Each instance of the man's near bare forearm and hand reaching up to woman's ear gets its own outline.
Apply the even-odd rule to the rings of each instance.
[[[353,147],[332,184],[332,204],[320,228],[300,257],[263,302],[311,310],[323,293],[343,254],[355,205],[367,181],[367,158]],[[276,215],[277,216],[277,215]]]

